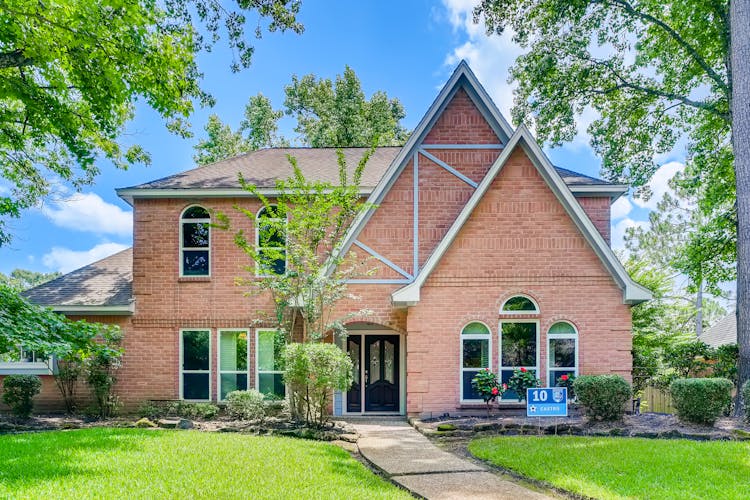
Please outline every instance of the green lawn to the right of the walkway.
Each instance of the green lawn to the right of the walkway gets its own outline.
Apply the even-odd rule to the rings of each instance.
[[[750,498],[750,442],[497,437],[474,440],[469,451],[594,498]]]

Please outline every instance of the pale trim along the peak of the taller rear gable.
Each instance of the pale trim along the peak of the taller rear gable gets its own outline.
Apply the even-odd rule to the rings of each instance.
[[[465,84],[464,80],[466,81]],[[409,162],[409,159],[411,159],[412,155],[420,146],[424,146],[422,145],[422,141],[424,140],[425,136],[432,129],[432,126],[440,117],[443,110],[451,101],[459,88],[463,88],[466,91],[466,93],[477,106],[484,118],[487,120],[487,123],[495,131],[495,133],[498,134],[498,138],[500,139],[501,143],[506,143],[508,139],[513,135],[513,127],[510,126],[508,121],[500,113],[500,110],[497,109],[497,106],[495,106],[495,103],[492,101],[489,94],[487,94],[487,91],[484,89],[484,87],[482,87],[482,84],[479,83],[479,80],[477,79],[476,75],[474,75],[474,72],[471,71],[471,68],[469,68],[467,62],[465,60],[462,60],[458,64],[458,67],[456,67],[451,77],[445,83],[443,88],[440,90],[440,93],[435,98],[435,101],[432,103],[432,105],[430,105],[427,113],[425,113],[424,117],[422,117],[419,125],[417,125],[417,127],[414,129],[414,132],[412,132],[412,134],[409,136],[409,139],[406,141],[406,144],[404,144],[404,147],[401,148],[401,151],[399,151],[396,158],[393,159],[393,162],[391,162],[391,165],[385,171],[385,174],[383,174],[383,177],[380,179],[380,182],[378,182],[378,185],[375,186],[375,189],[372,191],[372,194],[370,194],[370,197],[367,200],[368,203],[372,206],[368,210],[361,212],[352,223],[349,232],[346,234],[343,240],[341,246],[342,252],[346,253],[349,251],[352,244],[354,243],[354,240],[357,239],[359,233],[367,224],[367,221],[369,221],[370,217],[372,217],[377,208],[377,205],[383,200],[393,183],[396,182],[396,179],[398,178],[401,171],[403,171],[406,164]],[[326,274],[330,274],[330,272],[331,269],[326,270]]]

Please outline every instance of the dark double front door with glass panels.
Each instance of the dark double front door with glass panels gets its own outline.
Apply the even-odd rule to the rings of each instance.
[[[398,412],[399,336],[349,335],[347,352],[354,382],[346,395],[346,411]]]

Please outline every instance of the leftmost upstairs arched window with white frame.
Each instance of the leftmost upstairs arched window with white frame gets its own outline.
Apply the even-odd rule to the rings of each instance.
[[[211,275],[211,216],[203,207],[186,208],[180,217],[180,276]]]

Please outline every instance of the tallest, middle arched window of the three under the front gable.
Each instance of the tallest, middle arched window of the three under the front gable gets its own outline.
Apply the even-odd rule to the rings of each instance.
[[[515,295],[500,308],[500,382],[507,384],[513,371],[524,368],[539,373],[539,320],[509,318],[513,315],[538,315],[539,306],[530,297]],[[503,393],[503,400],[515,401],[519,395],[512,390]]]

